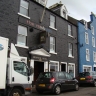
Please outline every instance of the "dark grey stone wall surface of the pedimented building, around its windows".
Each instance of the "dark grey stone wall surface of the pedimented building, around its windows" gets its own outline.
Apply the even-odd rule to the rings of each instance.
[[[23,25],[28,28],[27,46],[28,49],[22,47],[16,47],[19,54],[24,57],[28,57],[28,61],[31,59],[29,54],[30,50],[38,49],[41,45],[45,50],[49,52],[50,49],[50,36],[56,38],[56,53],[51,54],[49,60],[75,63],[75,73],[78,72],[78,50],[77,50],[77,26],[72,24],[70,21],[62,18],[56,13],[46,9],[43,22],[40,23],[40,18],[44,7],[33,0],[29,1],[29,17],[27,19],[23,16],[18,15],[20,0],[0,0],[0,36],[7,37],[10,43],[17,43],[18,25]],[[50,26],[50,14],[56,16],[56,30],[51,29]],[[46,43],[39,43],[40,26],[34,28],[28,23],[33,22],[34,24],[44,26],[47,30]],[[68,24],[72,25],[73,37],[68,36]],[[30,29],[33,29],[31,32]],[[74,58],[68,57],[68,42],[73,44]],[[28,62],[29,63],[29,62]]]

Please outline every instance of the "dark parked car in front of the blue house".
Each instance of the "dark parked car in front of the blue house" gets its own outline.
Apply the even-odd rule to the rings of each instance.
[[[79,84],[92,84],[96,87],[96,72],[82,72],[79,73],[78,77],[76,78],[79,81]]]

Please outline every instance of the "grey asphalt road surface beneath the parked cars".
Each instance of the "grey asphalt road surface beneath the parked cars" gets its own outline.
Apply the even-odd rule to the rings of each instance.
[[[51,93],[38,94],[37,92],[33,92],[29,96],[96,96],[96,87],[81,86],[79,91],[63,91],[60,95],[53,95]]]

